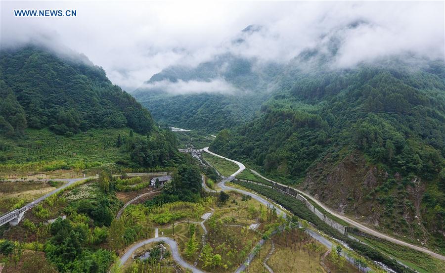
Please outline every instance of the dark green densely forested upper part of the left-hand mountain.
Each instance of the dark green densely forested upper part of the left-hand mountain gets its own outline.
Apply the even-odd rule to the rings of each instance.
[[[3,49],[0,85],[0,132],[7,136],[26,127],[56,134],[129,127],[146,134],[154,126],[145,108],[82,55],[62,57],[37,46]]]

